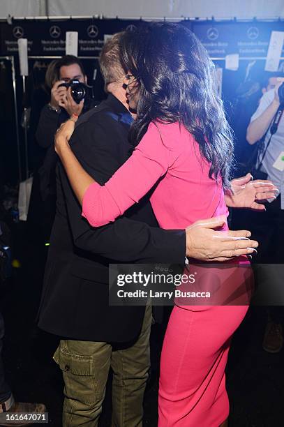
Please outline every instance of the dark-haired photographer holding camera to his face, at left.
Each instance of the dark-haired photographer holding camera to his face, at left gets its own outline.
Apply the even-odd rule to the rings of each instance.
[[[80,102],[75,101],[76,93],[71,93],[72,87],[68,85],[73,80],[83,84],[85,96]],[[38,170],[40,180],[40,198],[43,209],[40,212],[43,239],[48,241],[50,230],[55,215],[56,183],[55,167],[57,165],[57,154],[54,151],[54,135],[61,124],[69,119],[72,114],[78,116],[96,105],[91,98],[87,86],[87,75],[84,72],[82,62],[77,57],[67,55],[58,61],[53,61],[47,69],[45,84],[50,87],[50,102],[43,107],[36,130],[36,140],[40,147],[47,150],[43,165]],[[77,85],[79,86],[79,85]],[[77,87],[76,86],[76,87]],[[82,85],[80,90],[82,89]],[[80,91],[79,91],[80,92]],[[81,93],[82,94],[82,93]],[[84,94],[84,93],[83,93]],[[29,216],[38,217],[37,208],[32,204]],[[33,212],[32,212],[33,210]]]

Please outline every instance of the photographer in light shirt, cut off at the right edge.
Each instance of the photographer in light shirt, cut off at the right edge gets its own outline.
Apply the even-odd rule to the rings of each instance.
[[[251,145],[264,138],[264,147],[258,154],[257,170],[266,174],[280,190],[278,197],[267,204],[262,218],[255,215],[253,220],[254,237],[261,243],[255,260],[259,264],[284,263],[284,117],[281,115],[281,107],[284,107],[283,82],[284,78],[278,77],[274,89],[264,93],[246,133]],[[278,117],[278,127],[274,124],[275,117]],[[274,280],[278,283],[277,275]],[[279,280],[283,281],[283,278],[279,277]],[[282,306],[269,308],[269,322],[263,340],[263,348],[267,352],[276,353],[283,347],[283,316]]]

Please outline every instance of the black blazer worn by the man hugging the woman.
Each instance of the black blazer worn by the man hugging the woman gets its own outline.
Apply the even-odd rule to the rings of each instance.
[[[130,114],[110,95],[77,121],[70,146],[100,184],[126,161]],[[125,216],[91,227],[61,164],[57,167],[57,214],[45,267],[38,325],[71,339],[126,342],[139,334],[143,307],[108,305],[108,264],[184,263],[184,230],[157,227],[147,198]]]

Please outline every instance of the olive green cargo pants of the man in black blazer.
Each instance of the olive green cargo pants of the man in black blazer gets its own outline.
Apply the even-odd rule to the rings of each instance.
[[[110,343],[61,340],[54,360],[63,372],[63,427],[96,427],[112,368],[112,426],[142,427],[143,397],[149,375],[151,306],[142,330],[128,348]]]

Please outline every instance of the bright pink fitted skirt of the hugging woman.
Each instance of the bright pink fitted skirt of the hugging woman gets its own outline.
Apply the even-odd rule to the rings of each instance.
[[[159,427],[218,427],[225,421],[227,354],[247,310],[174,306],[160,361]]]

